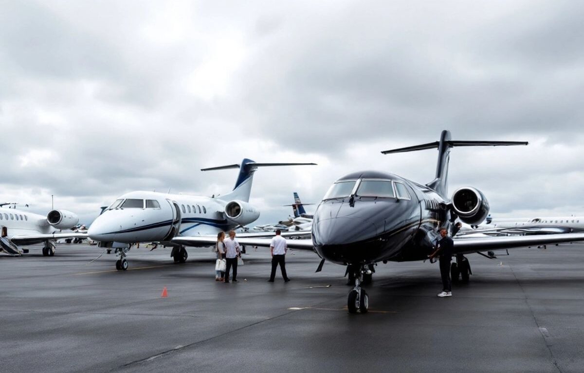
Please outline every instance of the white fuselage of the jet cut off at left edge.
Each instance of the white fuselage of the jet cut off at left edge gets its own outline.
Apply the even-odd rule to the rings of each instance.
[[[48,234],[55,228],[48,224],[47,217],[18,209],[0,207],[0,227],[6,227],[8,238],[15,235]]]

